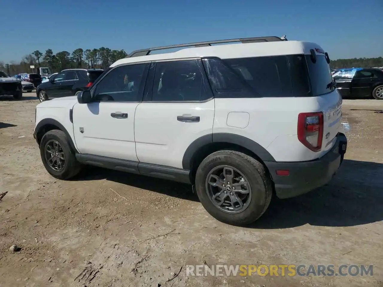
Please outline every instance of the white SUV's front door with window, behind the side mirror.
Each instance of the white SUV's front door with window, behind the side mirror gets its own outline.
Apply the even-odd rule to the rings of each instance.
[[[73,128],[80,153],[137,163],[134,114],[149,65],[112,68],[91,88],[92,103],[75,104]]]

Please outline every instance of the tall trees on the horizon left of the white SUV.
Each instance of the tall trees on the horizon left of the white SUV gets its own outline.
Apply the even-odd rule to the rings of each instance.
[[[49,67],[52,73],[60,72],[69,68],[108,68],[113,62],[126,57],[124,50],[111,50],[101,47],[100,49],[75,49],[72,53],[68,51],[53,53],[52,49],[47,49],[45,53],[36,50],[31,54],[25,55],[19,63],[0,62],[0,70],[8,75],[19,73],[30,73],[31,65],[34,65],[34,72],[39,67]]]

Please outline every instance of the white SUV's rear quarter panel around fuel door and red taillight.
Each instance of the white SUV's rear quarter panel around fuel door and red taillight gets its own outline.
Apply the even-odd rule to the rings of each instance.
[[[313,160],[326,154],[332,144],[322,144],[320,152],[306,148],[298,140],[298,114],[322,111],[326,127],[331,124],[326,120],[329,106],[339,102],[339,99],[338,93],[300,98],[219,98],[215,100],[213,133],[233,133],[247,137],[264,147],[276,161]],[[231,112],[248,113],[247,126],[229,126],[228,115]]]

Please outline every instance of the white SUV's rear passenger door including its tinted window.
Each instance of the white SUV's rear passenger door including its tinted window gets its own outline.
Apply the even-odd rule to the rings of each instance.
[[[214,98],[207,83],[201,60],[152,64],[134,119],[140,163],[183,168],[189,145],[213,133]]]

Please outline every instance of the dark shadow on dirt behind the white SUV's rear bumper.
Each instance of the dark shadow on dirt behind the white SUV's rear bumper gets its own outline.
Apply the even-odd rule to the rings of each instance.
[[[250,227],[289,228],[306,223],[345,227],[381,220],[383,164],[344,160],[329,184],[290,199],[274,197],[264,215]]]

